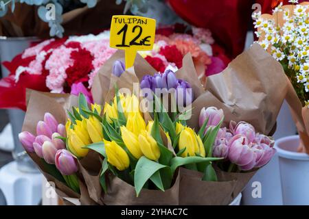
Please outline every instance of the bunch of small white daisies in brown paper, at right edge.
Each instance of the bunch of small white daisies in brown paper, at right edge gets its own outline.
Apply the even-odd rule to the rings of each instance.
[[[259,38],[259,43],[273,57],[282,64],[290,83],[295,92],[293,98],[287,98],[287,101],[293,109],[296,118],[299,135],[306,146],[308,152],[308,100],[309,100],[309,5],[301,3],[294,5],[298,1],[290,1],[293,5],[282,5],[282,3],[273,10],[273,15],[253,14],[255,19],[255,28],[258,31],[255,34]],[[291,86],[291,88],[292,88]],[[302,112],[301,105],[304,107]],[[301,149],[303,151],[304,149]]]

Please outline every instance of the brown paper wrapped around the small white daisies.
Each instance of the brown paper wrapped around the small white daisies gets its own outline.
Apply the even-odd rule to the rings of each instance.
[[[300,3],[299,5],[309,5],[308,2]],[[295,5],[283,5],[284,10],[288,9],[290,12],[293,11]],[[307,12],[309,9],[307,9]],[[278,23],[281,27],[284,23],[283,12],[278,12],[278,14],[262,14],[264,19],[273,19],[275,23]],[[264,35],[259,38],[259,41],[264,39]],[[271,49],[268,49],[271,52]],[[277,78],[276,78],[277,79]],[[292,114],[293,120],[297,127],[297,131],[300,137],[299,152],[304,152],[309,154],[309,110],[308,107],[303,107],[301,109],[301,101],[299,101],[297,94],[292,86],[292,83],[288,81],[288,93],[286,94],[286,101],[290,107],[290,112]]]

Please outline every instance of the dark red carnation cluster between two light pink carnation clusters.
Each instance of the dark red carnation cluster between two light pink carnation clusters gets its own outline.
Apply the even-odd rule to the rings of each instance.
[[[76,46],[76,44],[74,44],[74,46]],[[74,60],[74,64],[65,70],[65,73],[67,73],[66,81],[69,87],[71,87],[73,83],[88,81],[88,75],[91,70],[93,70],[93,56],[87,49],[72,51],[71,59]]]

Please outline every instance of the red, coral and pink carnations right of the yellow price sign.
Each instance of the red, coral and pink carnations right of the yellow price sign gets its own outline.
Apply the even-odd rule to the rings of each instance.
[[[200,77],[214,75],[225,69],[230,60],[215,44],[208,29],[183,25],[157,29],[152,51],[139,52],[156,70],[163,73],[168,65],[181,68],[182,59],[191,53]]]

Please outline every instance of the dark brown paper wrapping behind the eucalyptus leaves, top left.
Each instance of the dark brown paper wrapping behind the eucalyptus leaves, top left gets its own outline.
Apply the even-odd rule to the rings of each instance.
[[[14,12],[11,12],[9,6],[8,13],[0,19],[0,36],[49,38],[48,23],[38,17],[37,9],[36,5],[16,3]],[[104,0],[98,1],[94,8],[84,6],[65,12],[62,14],[64,34],[65,36],[89,34],[109,28],[111,17],[114,14],[122,14],[123,11],[124,3],[117,5],[114,0]]]

